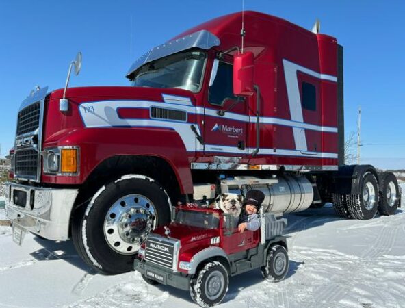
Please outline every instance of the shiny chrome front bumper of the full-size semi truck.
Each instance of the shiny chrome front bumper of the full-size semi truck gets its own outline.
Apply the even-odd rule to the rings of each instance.
[[[67,240],[70,213],[78,192],[5,183],[5,214],[26,231],[49,240]],[[21,196],[25,196],[25,201],[18,201]]]

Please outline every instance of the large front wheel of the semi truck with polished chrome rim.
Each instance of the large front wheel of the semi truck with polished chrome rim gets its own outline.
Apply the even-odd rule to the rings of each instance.
[[[148,211],[142,208],[145,213],[138,215],[140,207],[129,202],[122,205],[120,200],[124,198],[131,198],[134,203],[139,202],[136,201],[137,198],[148,201],[146,203]],[[133,270],[134,255],[140,242],[146,238],[146,233],[153,227],[170,222],[168,195],[156,182],[144,177],[120,179],[109,183],[96,192],[93,199],[88,205],[75,211],[72,238],[77,253],[89,266],[103,274],[120,274]],[[111,213],[118,207],[117,204],[122,205],[124,209],[117,214]],[[153,215],[149,212],[152,209]],[[129,210],[133,213],[133,217],[128,214]],[[138,219],[138,216],[142,216],[142,219]],[[146,221],[144,217],[148,217],[148,220]],[[108,227],[109,220],[114,221],[111,228]],[[117,229],[123,228],[124,224],[129,231],[121,232],[121,229]],[[110,235],[110,230],[113,235]],[[136,240],[135,235],[130,239],[133,233],[142,235]],[[112,236],[118,240],[112,242]]]

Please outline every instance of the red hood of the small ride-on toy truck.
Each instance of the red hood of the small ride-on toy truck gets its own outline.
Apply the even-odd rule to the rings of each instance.
[[[218,229],[201,229],[177,223],[168,225],[168,228],[170,229],[170,238],[180,240],[182,246],[200,240],[210,240],[215,236],[219,236]],[[165,235],[165,231],[164,227],[159,227],[153,233],[167,236]]]

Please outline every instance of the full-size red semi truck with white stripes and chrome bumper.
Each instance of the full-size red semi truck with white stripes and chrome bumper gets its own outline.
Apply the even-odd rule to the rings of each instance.
[[[393,214],[393,174],[343,162],[337,40],[259,12],[241,25],[242,13],[222,16],[151,49],[131,86],[32,92],[10,151],[14,240],[71,238],[116,274],[178,201],[256,188],[276,215],[328,201],[346,218]]]

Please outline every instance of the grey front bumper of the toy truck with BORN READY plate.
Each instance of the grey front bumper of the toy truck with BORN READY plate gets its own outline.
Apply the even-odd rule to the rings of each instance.
[[[133,261],[133,268],[149,279],[153,279],[162,285],[171,285],[172,287],[186,291],[190,289],[189,275],[182,276],[177,272],[148,265],[145,261],[140,261],[139,259]]]

